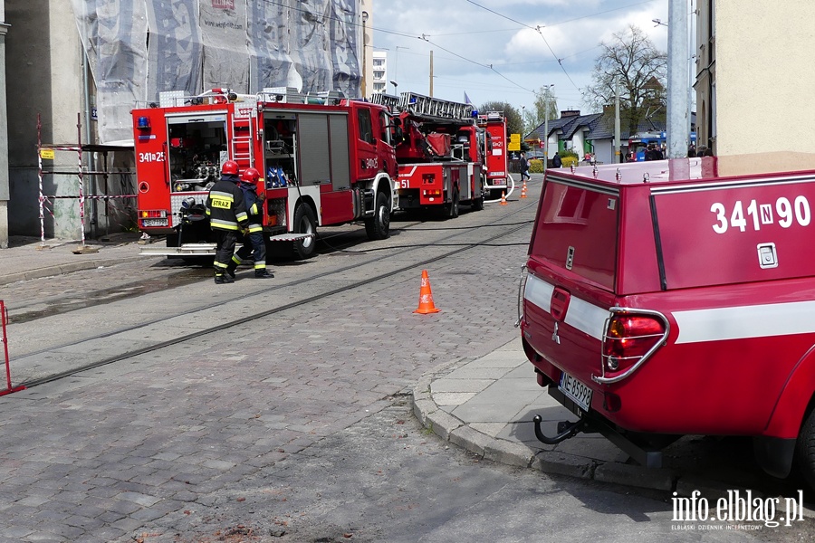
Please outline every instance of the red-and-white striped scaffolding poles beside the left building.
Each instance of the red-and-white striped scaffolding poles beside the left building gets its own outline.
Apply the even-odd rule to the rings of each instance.
[[[39,210],[40,210],[40,242],[45,244],[45,211],[53,217],[53,211],[48,208],[48,205],[53,206],[53,200],[56,199],[74,199],[78,201],[79,215],[80,215],[80,231],[82,248],[85,246],[85,202],[91,201],[91,237],[94,234],[98,235],[98,231],[94,233],[94,226],[98,230],[98,217],[97,205],[100,201],[105,205],[105,229],[106,233],[110,233],[110,206],[112,200],[127,200],[135,199],[136,195],[122,194],[110,195],[110,176],[129,176],[135,179],[134,171],[110,171],[108,164],[108,154],[116,151],[133,152],[133,146],[112,146],[112,145],[98,145],[98,144],[82,144],[82,115],[77,114],[76,119],[77,128],[77,143],[75,145],[61,145],[61,144],[43,144],[42,141],[42,122],[40,115],[37,115],[37,165],[38,165],[38,178],[39,178]],[[75,170],[58,170],[58,169],[44,169],[43,160],[54,160],[56,152],[73,152],[77,156],[77,168]],[[96,161],[88,160],[88,163],[94,167],[85,167],[85,157],[93,153],[101,154],[102,168],[95,169]],[[44,176],[76,176],[78,178],[78,194],[76,195],[45,195],[43,194],[43,178]],[[86,177],[90,180],[91,190],[85,190]],[[99,190],[98,179],[101,177],[102,186],[101,194]],[[56,183],[54,181],[54,183]],[[135,183],[129,183],[129,187],[135,189]],[[133,211],[133,223],[135,224],[135,207]]]

